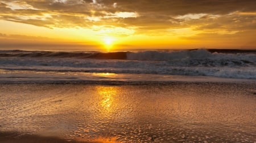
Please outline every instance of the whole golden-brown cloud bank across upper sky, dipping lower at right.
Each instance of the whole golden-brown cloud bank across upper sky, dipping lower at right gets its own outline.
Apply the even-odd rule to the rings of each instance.
[[[122,35],[179,34],[179,37],[192,41],[210,41],[208,35],[215,36],[217,41],[246,36],[247,42],[254,43],[256,1],[2,0],[0,20],[47,28],[79,27],[96,31],[119,28],[129,31]],[[180,31],[184,28],[195,34],[183,34]]]

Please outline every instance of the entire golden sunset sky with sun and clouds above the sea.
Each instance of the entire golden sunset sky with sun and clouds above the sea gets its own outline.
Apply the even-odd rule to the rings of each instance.
[[[256,1],[0,1],[0,49],[195,48],[256,49]]]

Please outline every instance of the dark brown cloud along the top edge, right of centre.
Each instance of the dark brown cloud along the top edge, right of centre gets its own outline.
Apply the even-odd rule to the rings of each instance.
[[[233,11],[255,11],[254,0],[130,0],[130,1],[100,1],[107,6],[117,2],[120,10],[152,12],[164,15],[185,15],[197,13],[228,14]]]

